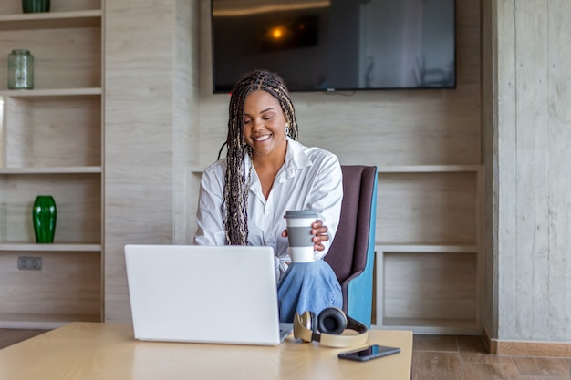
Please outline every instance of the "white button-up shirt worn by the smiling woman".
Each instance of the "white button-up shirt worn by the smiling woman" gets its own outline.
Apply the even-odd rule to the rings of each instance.
[[[247,180],[250,158],[244,158],[244,176]],[[198,230],[194,243],[198,245],[224,245],[223,186],[226,159],[220,159],[204,169],[201,180],[197,212]],[[325,250],[314,252],[315,259],[323,258],[335,237],[343,199],[343,177],[337,156],[324,149],[307,148],[287,139],[285,163],[275,176],[267,200],[262,185],[252,167],[248,194],[248,244],[274,248],[277,278],[291,262],[287,253],[285,211],[315,210],[317,218],[328,228],[329,241]]]

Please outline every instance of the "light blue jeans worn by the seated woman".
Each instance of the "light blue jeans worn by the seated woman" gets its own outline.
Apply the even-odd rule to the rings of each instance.
[[[327,307],[343,306],[341,285],[323,260],[290,264],[277,284],[277,300],[280,322],[294,322],[296,313],[318,315]]]

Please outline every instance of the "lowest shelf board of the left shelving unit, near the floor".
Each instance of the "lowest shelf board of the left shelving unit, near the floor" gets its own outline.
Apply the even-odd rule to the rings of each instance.
[[[0,313],[0,328],[51,330],[71,322],[101,322],[99,315]]]

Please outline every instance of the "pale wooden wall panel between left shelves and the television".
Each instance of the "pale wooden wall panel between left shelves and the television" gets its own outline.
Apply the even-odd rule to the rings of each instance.
[[[130,321],[125,244],[190,239],[187,173],[199,144],[197,6],[185,0],[106,6],[107,321]]]

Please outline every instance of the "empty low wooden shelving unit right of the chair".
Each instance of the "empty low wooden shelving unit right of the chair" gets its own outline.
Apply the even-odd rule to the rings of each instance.
[[[379,171],[376,326],[481,334],[483,166]]]

